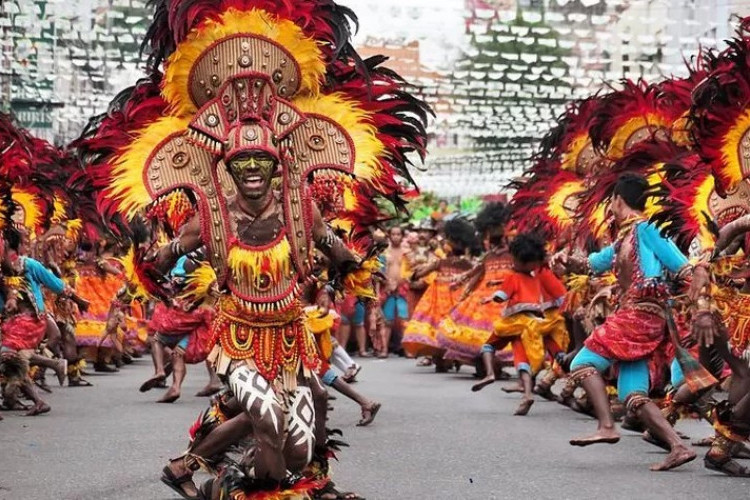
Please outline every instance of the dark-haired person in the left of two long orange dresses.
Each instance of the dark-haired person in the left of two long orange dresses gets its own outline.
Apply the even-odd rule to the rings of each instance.
[[[454,281],[472,268],[469,256],[476,253],[478,247],[474,228],[463,219],[449,220],[445,223],[444,231],[451,254],[413,269],[413,278],[417,280],[432,273],[435,276],[406,324],[402,341],[407,355],[431,358],[437,372],[447,371],[444,351],[437,340],[438,327],[456,305],[461,290],[453,286]]]

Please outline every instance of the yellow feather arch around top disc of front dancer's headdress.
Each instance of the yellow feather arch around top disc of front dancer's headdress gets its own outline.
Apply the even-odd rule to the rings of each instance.
[[[192,30],[169,56],[162,94],[173,113],[188,116],[197,111],[190,97],[189,77],[200,55],[217,41],[242,34],[260,35],[284,47],[297,61],[302,73],[299,93],[315,95],[320,91],[326,67],[318,42],[306,37],[292,21],[279,19],[264,10],[230,8],[218,20],[207,20]]]

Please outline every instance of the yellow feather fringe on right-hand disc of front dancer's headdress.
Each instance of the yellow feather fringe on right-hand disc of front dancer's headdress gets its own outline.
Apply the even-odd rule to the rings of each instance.
[[[335,121],[346,130],[354,143],[354,175],[377,187],[381,172],[380,158],[385,146],[377,137],[372,114],[340,92],[294,100],[303,113],[314,113]]]

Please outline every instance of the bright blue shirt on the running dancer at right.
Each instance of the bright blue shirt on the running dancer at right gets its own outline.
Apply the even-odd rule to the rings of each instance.
[[[639,222],[635,226],[638,242],[638,261],[644,278],[663,278],[665,271],[677,273],[688,259],[669,238],[665,238],[656,226]],[[600,252],[589,255],[589,266],[597,274],[610,271],[615,264],[615,246],[610,245]]]

